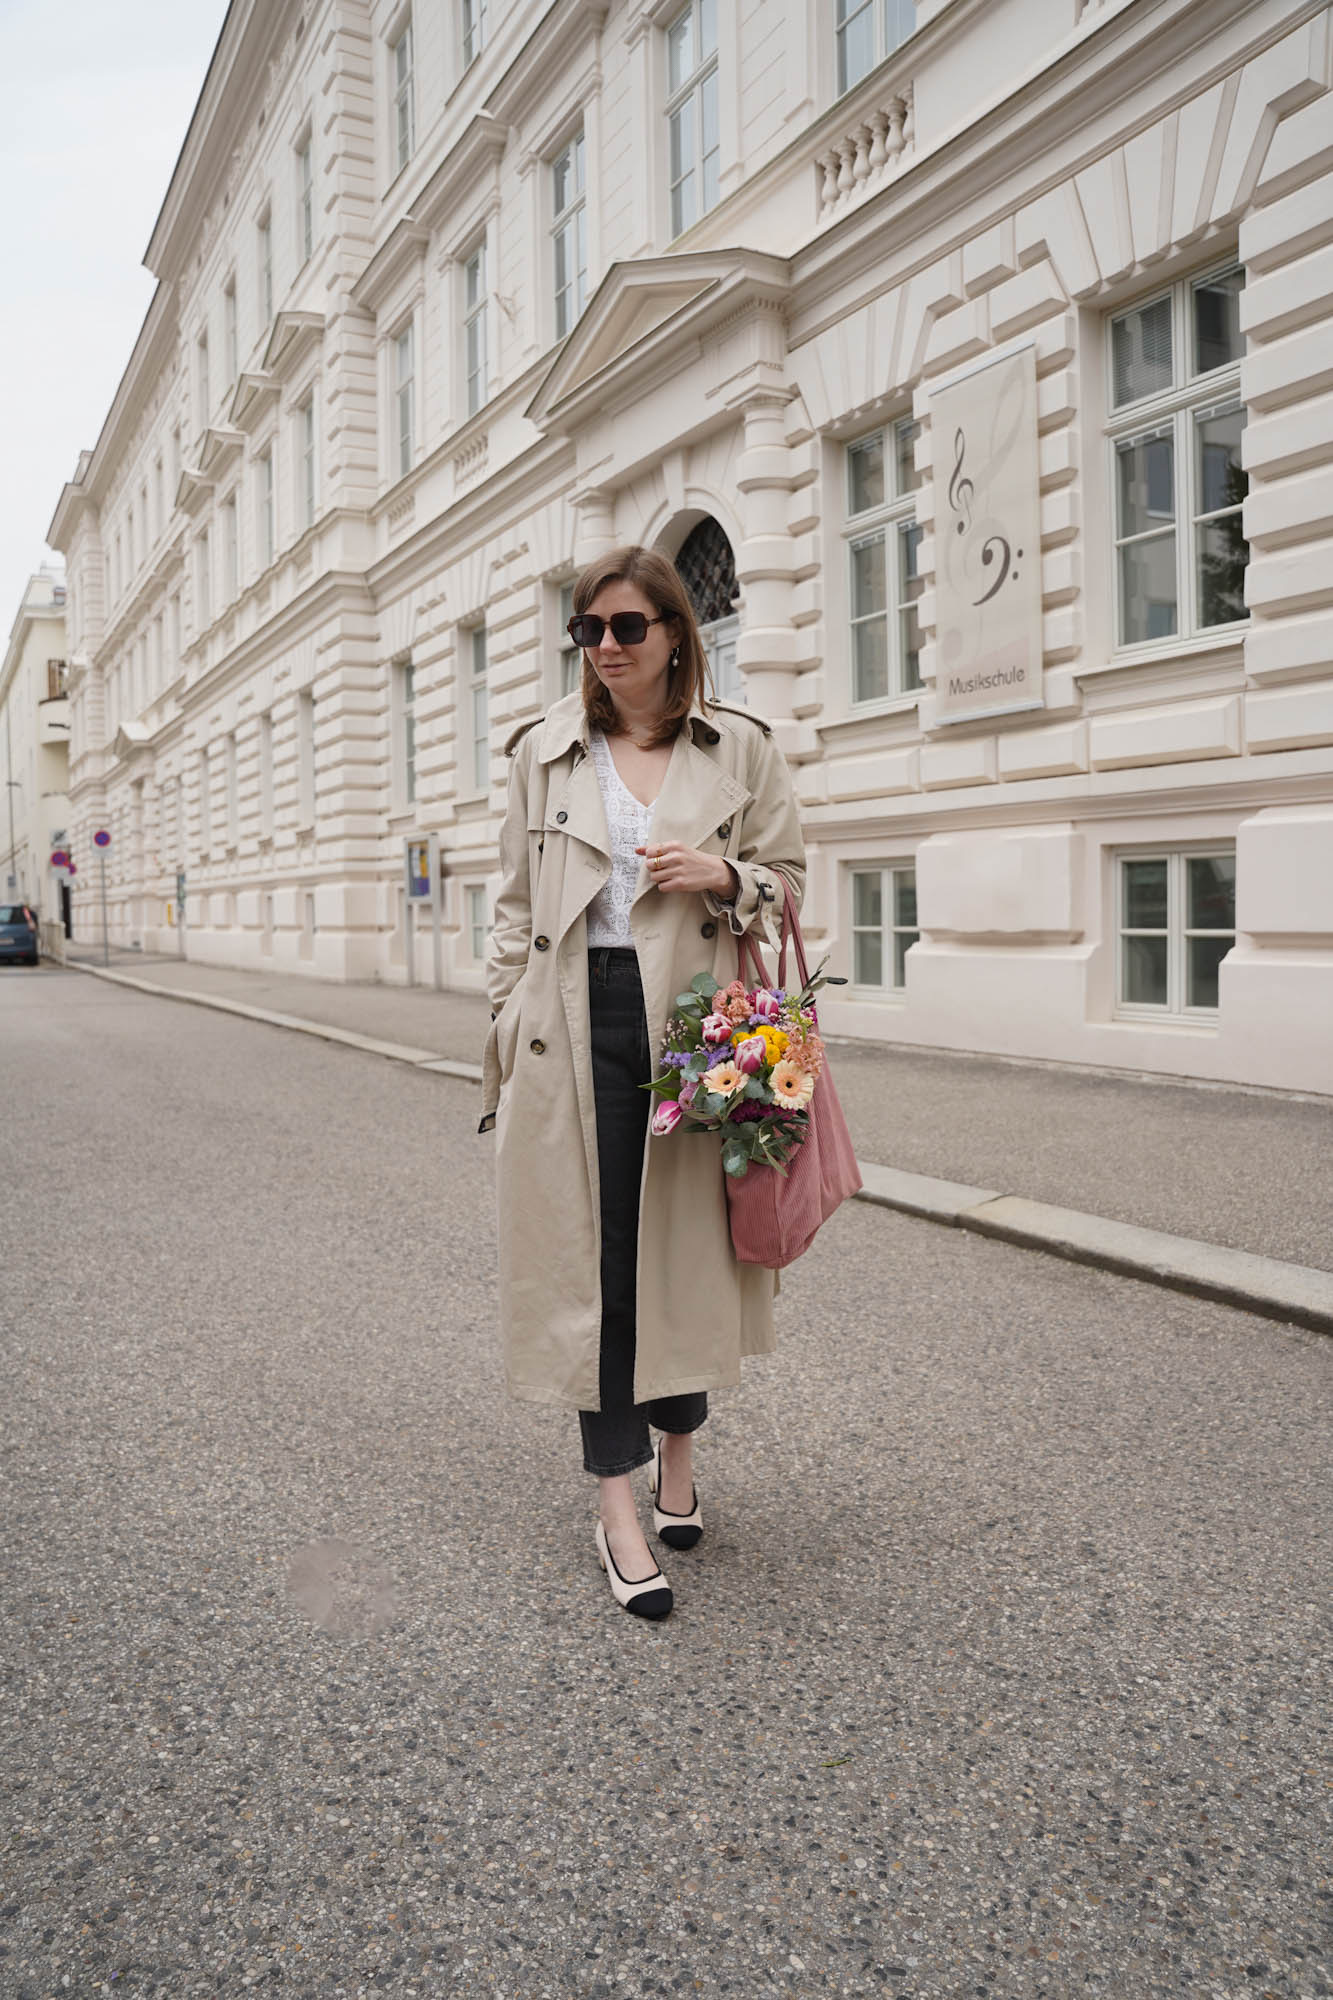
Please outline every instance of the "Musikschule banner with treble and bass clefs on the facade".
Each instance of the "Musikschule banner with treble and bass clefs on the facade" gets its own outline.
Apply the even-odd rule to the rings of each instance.
[[[935,390],[931,440],[935,720],[1041,708],[1035,350]]]

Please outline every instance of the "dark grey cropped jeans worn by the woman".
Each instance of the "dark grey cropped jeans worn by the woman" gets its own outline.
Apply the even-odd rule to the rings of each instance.
[[[602,1356],[600,1410],[580,1410],[582,1468],[610,1478],[652,1458],[648,1424],[699,1430],[709,1414],[703,1390],[634,1402],[634,1294],[638,1268],[638,1182],[652,1096],[652,1050],[632,948],[588,952],[596,1164],[602,1188]]]

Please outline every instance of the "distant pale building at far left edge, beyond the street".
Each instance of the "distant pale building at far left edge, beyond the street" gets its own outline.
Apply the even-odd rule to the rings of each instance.
[[[0,666],[0,902],[26,902],[44,942],[62,928],[70,826],[70,700],[66,694],[64,576],[28,580]]]

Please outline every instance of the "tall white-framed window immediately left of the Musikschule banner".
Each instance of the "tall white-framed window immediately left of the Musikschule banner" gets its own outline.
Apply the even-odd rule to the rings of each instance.
[[[847,446],[853,702],[921,686],[915,442],[917,424],[901,418]]]

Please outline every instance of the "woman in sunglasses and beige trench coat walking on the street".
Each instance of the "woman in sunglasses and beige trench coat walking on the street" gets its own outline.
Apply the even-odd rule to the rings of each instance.
[[[775,942],[779,876],[801,900],[805,848],[769,726],[707,700],[664,556],[592,562],[570,636],[580,688],[504,746],[480,1130],[498,1138],[508,1388],[578,1410],[598,1560],[618,1604],[660,1618],[671,1586],[628,1476],[652,1466],[654,1530],[693,1546],[693,1432],[741,1356],[773,1348],[777,1284],[731,1254],[717,1136],[648,1138],[642,1086],[691,978],[733,980],[747,930]]]

